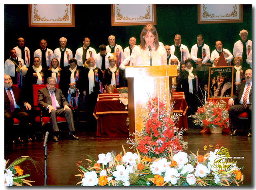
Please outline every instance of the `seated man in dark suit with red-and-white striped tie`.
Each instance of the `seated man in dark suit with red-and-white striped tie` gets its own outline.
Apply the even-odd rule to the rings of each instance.
[[[252,137],[252,69],[247,69],[244,74],[245,82],[238,86],[236,93],[228,100],[230,136],[237,135],[238,119],[240,113],[246,112],[250,121],[250,129],[247,137]]]

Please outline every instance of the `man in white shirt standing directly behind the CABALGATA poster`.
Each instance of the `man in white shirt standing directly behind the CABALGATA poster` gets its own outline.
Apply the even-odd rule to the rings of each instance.
[[[228,51],[228,49],[222,48],[222,42],[220,40],[215,42],[215,48],[216,49],[214,49],[211,53],[211,58],[210,58],[211,63],[213,63],[216,57],[220,57],[220,53],[224,54],[224,57],[227,63],[231,62],[232,59],[234,58],[234,56],[232,55],[232,53],[230,53],[230,51]]]

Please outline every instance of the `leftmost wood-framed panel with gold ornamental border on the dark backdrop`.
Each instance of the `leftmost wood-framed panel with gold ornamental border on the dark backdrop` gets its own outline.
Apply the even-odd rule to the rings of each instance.
[[[75,6],[72,4],[28,5],[29,27],[75,27]]]

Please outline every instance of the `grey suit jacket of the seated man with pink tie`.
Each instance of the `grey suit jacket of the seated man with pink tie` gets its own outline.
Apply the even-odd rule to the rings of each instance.
[[[55,93],[56,99],[61,107],[64,107],[64,105],[68,105],[68,101],[66,100],[66,98],[64,97],[64,95],[62,94],[62,91],[60,89],[56,88],[54,93]],[[37,103],[40,106],[44,106],[45,109],[48,107],[48,105],[52,106],[52,98],[51,98],[50,93],[46,87],[38,90]]]

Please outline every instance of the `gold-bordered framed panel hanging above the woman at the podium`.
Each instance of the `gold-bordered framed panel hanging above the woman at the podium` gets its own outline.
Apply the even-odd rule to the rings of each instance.
[[[156,5],[112,4],[111,25],[132,26],[156,24]]]

